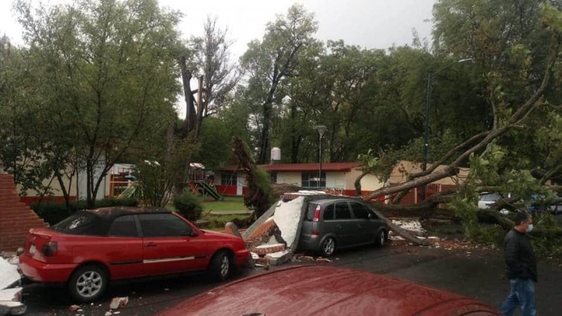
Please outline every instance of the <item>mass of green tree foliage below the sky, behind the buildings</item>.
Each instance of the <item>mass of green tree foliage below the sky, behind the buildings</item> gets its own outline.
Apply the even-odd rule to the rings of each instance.
[[[366,172],[385,178],[398,159],[424,159],[428,124],[430,168],[374,195],[460,166],[473,170],[471,190],[491,185],[524,199],[562,176],[559,1],[438,0],[432,41],[414,34],[412,45],[390,48],[320,41],[313,13],[295,5],[237,63],[216,19],[207,19],[202,36],[184,40],[181,16],[155,0],[16,7],[27,44],[0,47],[0,133],[10,140],[4,165],[22,183],[84,169],[93,199],[96,170],[107,172],[119,159],[180,165],[172,156],[184,152],[183,159],[218,168],[231,158],[233,136],[259,164],[273,146],[282,162],[318,162],[317,125],[327,126],[325,162],[362,161]],[[181,122],[178,79],[200,75],[197,100],[183,82],[193,121]],[[449,168],[432,173],[437,164]]]

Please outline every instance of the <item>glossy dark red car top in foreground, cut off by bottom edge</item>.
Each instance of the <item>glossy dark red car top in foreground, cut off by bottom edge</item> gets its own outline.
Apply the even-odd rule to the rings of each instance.
[[[159,315],[501,315],[471,298],[370,272],[300,265],[192,296]]]

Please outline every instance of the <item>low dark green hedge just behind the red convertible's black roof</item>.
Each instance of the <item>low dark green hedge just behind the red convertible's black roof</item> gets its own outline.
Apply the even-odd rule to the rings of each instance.
[[[115,199],[113,197],[96,201],[96,208],[110,206],[138,206],[138,202],[136,199]],[[49,225],[53,225],[72,215],[75,211],[87,209],[87,204],[84,200],[72,201],[67,207],[65,202],[42,202],[32,204],[31,209]]]

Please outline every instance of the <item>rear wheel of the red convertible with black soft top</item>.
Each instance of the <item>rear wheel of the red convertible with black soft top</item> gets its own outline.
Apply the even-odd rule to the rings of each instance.
[[[91,302],[102,296],[107,288],[108,277],[99,265],[84,265],[68,280],[70,296],[80,302]]]

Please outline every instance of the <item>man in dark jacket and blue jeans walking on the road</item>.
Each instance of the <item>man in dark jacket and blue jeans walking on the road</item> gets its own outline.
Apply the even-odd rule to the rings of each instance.
[[[506,273],[511,291],[500,312],[506,316],[513,315],[519,305],[523,316],[537,315],[534,283],[537,282],[537,259],[527,235],[531,230],[531,216],[520,211],[515,216],[515,227],[504,239]]]

